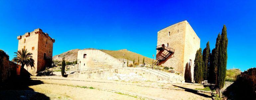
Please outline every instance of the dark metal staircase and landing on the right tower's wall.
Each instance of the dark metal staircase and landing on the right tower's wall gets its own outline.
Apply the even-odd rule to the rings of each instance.
[[[160,56],[157,57],[156,65],[159,64],[159,62],[166,60],[170,55],[173,55],[175,50],[170,47],[166,47],[164,44],[156,46],[156,50],[164,51],[166,50],[167,52],[165,54],[160,54]]]

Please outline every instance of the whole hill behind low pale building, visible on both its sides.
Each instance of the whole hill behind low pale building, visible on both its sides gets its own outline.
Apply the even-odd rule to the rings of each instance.
[[[66,61],[73,61],[73,59],[77,58],[77,51],[80,49],[74,49],[74,50],[69,50],[64,53],[58,54],[53,56],[53,60],[57,61],[62,61],[63,56],[65,57]],[[140,57],[140,63],[142,63],[143,58],[145,57],[145,63],[148,61],[148,64],[152,64],[152,58],[148,58],[146,56],[143,56],[141,54],[123,49],[123,50],[101,50],[115,58],[118,59],[123,59],[123,54],[125,54],[124,59],[128,59],[130,61],[133,61],[135,59],[135,62],[138,61],[138,56]],[[148,60],[147,60],[148,59]],[[131,62],[129,62],[131,63]]]

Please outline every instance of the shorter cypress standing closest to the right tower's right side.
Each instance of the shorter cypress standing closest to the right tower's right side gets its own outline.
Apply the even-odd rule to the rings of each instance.
[[[203,71],[202,71],[202,49],[200,48],[199,50],[196,51],[195,54],[195,60],[194,60],[194,80],[196,83],[201,83],[203,80]]]

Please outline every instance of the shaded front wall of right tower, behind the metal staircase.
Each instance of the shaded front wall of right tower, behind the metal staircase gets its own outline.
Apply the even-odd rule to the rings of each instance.
[[[185,48],[185,31],[186,22],[180,22],[169,26],[163,30],[160,30],[157,35],[157,46],[169,43],[169,47],[175,49],[175,53],[169,56],[167,60],[161,61],[159,65],[173,67],[175,71],[183,73],[183,63],[184,63],[184,48]],[[170,32],[170,36],[169,36]],[[167,51],[164,50],[163,53]],[[157,50],[157,56],[159,56]]]

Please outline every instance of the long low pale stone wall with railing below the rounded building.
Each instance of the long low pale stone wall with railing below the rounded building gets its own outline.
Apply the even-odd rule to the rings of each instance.
[[[157,73],[156,70],[148,70],[140,67],[101,68],[92,71],[81,71],[80,73],[69,74],[68,77],[107,79],[108,77],[112,77],[117,73],[129,74],[132,72],[141,75],[148,81],[166,81],[174,83],[181,83],[184,81],[183,77],[180,75],[161,75],[164,73]]]

